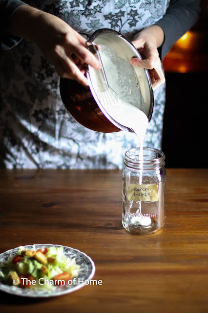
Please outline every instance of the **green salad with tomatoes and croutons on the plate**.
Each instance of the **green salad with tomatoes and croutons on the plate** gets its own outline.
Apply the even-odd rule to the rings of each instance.
[[[63,247],[25,249],[0,265],[0,279],[19,288],[48,289],[65,285],[79,275],[80,265],[63,254]]]

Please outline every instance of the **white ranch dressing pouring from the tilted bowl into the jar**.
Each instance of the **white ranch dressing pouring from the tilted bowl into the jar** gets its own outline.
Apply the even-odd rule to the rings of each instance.
[[[103,49],[103,48],[102,48]],[[105,47],[106,49],[106,47]],[[102,51],[102,50],[101,50]],[[110,74],[111,78],[111,83],[113,85],[111,86],[114,89],[114,85],[117,86],[117,93],[119,95],[123,94],[122,86],[119,84],[119,76],[117,75],[117,68],[114,66],[112,60],[109,58],[111,54],[107,54],[109,52],[109,49],[106,50],[106,55],[105,53],[102,53],[102,61],[104,64],[104,71],[105,74],[108,73],[113,73]],[[113,55],[113,54],[112,54]],[[121,60],[120,60],[121,61]],[[123,60],[122,65],[124,65],[124,62],[126,65],[130,66],[130,64],[127,61]],[[128,63],[128,64],[127,64]],[[103,80],[100,80],[99,76],[97,76],[97,71],[91,69],[90,71],[90,76],[93,82],[94,90],[96,94],[98,95],[97,92],[101,92],[106,90],[106,88],[103,88],[105,86],[102,86]],[[113,78],[113,79],[112,79]],[[146,114],[142,112],[138,107],[135,105],[132,105],[125,101],[124,98],[121,97],[119,104],[117,101],[110,101],[110,96],[108,94],[108,91],[103,92],[104,97],[99,97],[99,100],[101,104],[103,105],[105,111],[118,123],[121,125],[124,125],[130,129],[133,130],[133,132],[137,135],[140,141],[140,153],[139,153],[139,160],[143,161],[144,156],[143,156],[143,144],[144,144],[144,139],[145,139],[145,134],[146,134],[146,129],[148,127],[148,119],[146,117]],[[106,96],[109,101],[104,101],[102,99],[106,99]],[[139,177],[139,184],[142,185],[142,167],[140,170],[140,177]],[[142,215],[141,209],[142,209],[142,203],[141,201],[139,202],[139,209],[137,210],[137,216],[131,218],[131,222],[135,225],[140,225],[140,226],[148,226],[151,224],[151,218],[150,217],[144,217]],[[133,204],[133,201],[132,201]],[[132,205],[131,204],[131,205]]]

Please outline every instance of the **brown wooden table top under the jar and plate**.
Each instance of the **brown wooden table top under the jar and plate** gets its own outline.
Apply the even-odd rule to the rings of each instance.
[[[120,170],[0,171],[0,253],[71,246],[103,281],[42,300],[0,292],[1,312],[208,312],[208,170],[167,169],[166,223],[154,235],[123,229],[121,183]]]

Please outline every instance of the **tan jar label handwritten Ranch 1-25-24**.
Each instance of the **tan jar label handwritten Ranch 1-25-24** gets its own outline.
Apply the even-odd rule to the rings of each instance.
[[[158,185],[130,184],[127,191],[127,198],[132,201],[158,201]]]

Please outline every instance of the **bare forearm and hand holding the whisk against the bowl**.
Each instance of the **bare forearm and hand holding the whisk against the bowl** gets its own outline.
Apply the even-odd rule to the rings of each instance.
[[[86,39],[49,13],[22,5],[12,17],[8,32],[35,42],[61,77],[75,79],[83,86],[88,85],[85,63],[101,68],[100,61],[85,47]]]

